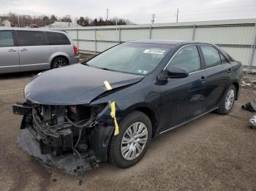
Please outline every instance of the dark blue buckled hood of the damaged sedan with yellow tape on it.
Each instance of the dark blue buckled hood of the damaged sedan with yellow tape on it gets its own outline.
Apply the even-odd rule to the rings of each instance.
[[[107,90],[108,81],[112,90],[132,85],[143,76],[97,69],[83,64],[74,64],[38,74],[24,89],[25,98],[35,104],[78,105],[89,104]]]

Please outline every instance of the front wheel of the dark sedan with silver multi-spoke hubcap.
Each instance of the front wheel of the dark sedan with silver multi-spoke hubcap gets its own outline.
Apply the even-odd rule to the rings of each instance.
[[[141,160],[141,158],[146,154],[146,151],[148,149],[148,146],[151,142],[151,137],[152,137],[151,120],[143,112],[135,111],[130,113],[127,117],[125,117],[124,120],[122,120],[118,125],[119,125],[119,133],[117,136],[113,136],[110,141],[110,148],[109,148],[110,162],[116,164],[118,167],[128,168],[129,166],[132,166],[138,163]],[[129,142],[130,147],[128,146],[128,144],[124,144],[124,142],[123,144],[121,144],[122,141],[128,140],[127,137],[129,137],[129,134],[128,134],[130,132],[129,130],[135,130],[136,129],[135,126],[137,126],[138,134],[135,134],[135,138],[129,139],[131,140]],[[147,136],[140,136],[136,138],[136,136],[146,134],[146,131],[147,131]],[[133,132],[136,132],[136,131],[133,131]],[[138,141],[145,142],[145,144],[138,143]],[[135,158],[130,157],[128,159],[129,149],[127,152],[123,152],[122,154],[121,146],[123,149],[132,148],[131,149],[132,154],[137,152],[137,156],[135,157],[135,155],[133,155],[133,157]],[[143,148],[143,149],[139,150],[138,148]],[[134,152],[134,149],[136,152]],[[125,158],[124,154],[127,155],[127,158]]]

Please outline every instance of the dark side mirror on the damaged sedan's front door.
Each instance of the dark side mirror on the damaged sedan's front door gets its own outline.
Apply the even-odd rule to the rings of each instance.
[[[188,76],[189,76],[189,72],[187,71],[187,69],[169,67],[162,72],[160,79],[184,78]]]

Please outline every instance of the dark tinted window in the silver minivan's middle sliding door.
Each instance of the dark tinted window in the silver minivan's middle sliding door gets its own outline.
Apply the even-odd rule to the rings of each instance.
[[[45,45],[42,31],[17,31],[17,36],[20,47]]]

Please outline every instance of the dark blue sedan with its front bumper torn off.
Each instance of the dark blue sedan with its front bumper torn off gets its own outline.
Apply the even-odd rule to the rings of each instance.
[[[102,161],[135,165],[151,139],[239,95],[241,63],[214,44],[119,44],[85,63],[42,72],[26,85],[18,145],[42,163],[83,174]]]

